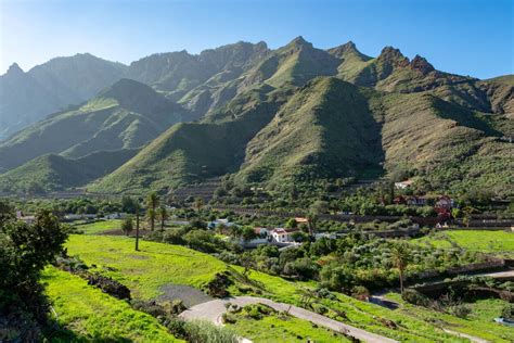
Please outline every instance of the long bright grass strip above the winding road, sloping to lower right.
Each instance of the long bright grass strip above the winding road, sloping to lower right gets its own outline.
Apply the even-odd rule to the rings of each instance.
[[[211,280],[216,272],[224,270],[232,270],[234,284],[229,291],[233,295],[265,296],[301,305],[300,289],[316,287],[316,282],[290,282],[258,271],[252,271],[248,279],[245,279],[240,267],[231,267],[214,256],[178,245],[142,241],[141,252],[136,253],[133,239],[125,237],[72,236],[66,247],[68,254],[79,256],[88,265],[95,264],[97,270],[126,284],[132,296],[140,298],[156,297],[162,293],[160,287],[170,283],[201,288]],[[111,268],[104,269],[105,266]],[[316,306],[326,307],[326,315],[338,320],[342,318],[337,317],[334,310],[345,312],[348,319],[343,321],[355,327],[403,341],[466,341],[441,330],[441,327],[452,326],[450,321],[435,325],[419,318],[416,314],[407,316],[401,310],[360,302],[340,293],[334,294],[336,300],[320,298]],[[387,327],[384,319],[395,321],[398,327]],[[459,331],[459,328],[453,331]],[[480,334],[477,333],[477,336]]]

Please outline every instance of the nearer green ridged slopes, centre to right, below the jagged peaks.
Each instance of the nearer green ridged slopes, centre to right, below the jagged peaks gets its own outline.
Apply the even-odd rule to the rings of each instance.
[[[513,145],[464,106],[334,77],[292,89],[281,101],[272,100],[273,88],[252,91],[202,123],[176,125],[89,189],[165,190],[227,173],[237,182],[287,189],[407,168],[436,189],[459,176],[470,187],[509,190]]]

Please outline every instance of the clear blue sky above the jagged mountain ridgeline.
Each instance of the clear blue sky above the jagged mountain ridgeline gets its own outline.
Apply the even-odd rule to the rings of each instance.
[[[142,56],[245,40],[278,48],[297,36],[318,48],[384,46],[438,69],[488,78],[514,73],[514,0],[0,0],[0,73],[90,52]]]

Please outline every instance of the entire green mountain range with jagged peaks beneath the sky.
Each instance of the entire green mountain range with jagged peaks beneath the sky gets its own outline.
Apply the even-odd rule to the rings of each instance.
[[[444,73],[391,47],[376,58],[352,42],[317,49],[301,37],[277,50],[237,42],[129,66],[88,54],[27,73],[12,66],[0,78],[2,130],[33,124],[0,143],[0,189],[31,180],[44,190],[165,191],[230,174],[280,190],[406,169],[433,189],[512,195],[513,80]],[[105,168],[85,166],[104,158]],[[69,173],[77,166],[87,175]]]

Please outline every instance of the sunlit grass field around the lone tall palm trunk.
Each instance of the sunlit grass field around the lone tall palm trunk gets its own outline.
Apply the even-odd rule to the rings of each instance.
[[[201,288],[226,270],[221,261],[183,246],[140,241],[141,251],[136,252],[134,240],[125,237],[74,234],[66,247],[88,265],[114,268],[104,274],[142,298],[159,295],[159,288],[168,283]]]

